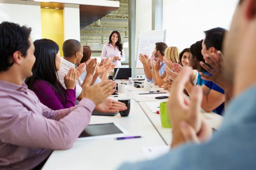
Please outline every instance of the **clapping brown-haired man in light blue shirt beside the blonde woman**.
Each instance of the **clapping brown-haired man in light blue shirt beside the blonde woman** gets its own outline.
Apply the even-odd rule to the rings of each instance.
[[[148,58],[148,55],[140,54],[139,59],[141,63],[143,64],[144,73],[146,75],[146,78],[151,83],[154,83],[157,85],[157,81],[155,78],[155,72],[154,72],[154,66],[156,65],[156,61],[160,59],[160,69],[159,69],[159,76],[162,76],[164,73],[164,51],[167,48],[166,43],[158,42],[156,43],[156,47],[152,53],[151,58]]]

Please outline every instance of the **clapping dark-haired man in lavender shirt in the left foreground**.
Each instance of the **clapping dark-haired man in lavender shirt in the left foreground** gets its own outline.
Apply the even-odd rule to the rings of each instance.
[[[30,28],[0,24],[0,169],[38,169],[53,149],[69,149],[88,125],[95,106],[114,92],[105,81],[82,90],[80,103],[53,111],[22,82],[35,62]],[[97,95],[95,95],[97,94]],[[125,106],[119,109],[124,110]]]

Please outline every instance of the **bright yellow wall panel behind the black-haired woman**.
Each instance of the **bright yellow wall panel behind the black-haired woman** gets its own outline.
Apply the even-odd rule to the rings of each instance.
[[[60,47],[63,56],[62,44],[64,43],[63,10],[41,8],[42,38],[55,41]]]

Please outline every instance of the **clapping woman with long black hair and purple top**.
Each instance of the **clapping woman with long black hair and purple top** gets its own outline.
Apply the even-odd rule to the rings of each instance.
[[[65,90],[57,78],[60,69],[60,51],[58,45],[50,39],[34,41],[36,62],[33,75],[26,78],[28,89],[35,92],[40,102],[53,110],[69,108],[76,104],[76,71],[70,68],[64,82]]]

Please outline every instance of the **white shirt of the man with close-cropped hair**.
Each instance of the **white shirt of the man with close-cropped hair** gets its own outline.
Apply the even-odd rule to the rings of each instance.
[[[68,74],[68,71],[70,68],[75,68],[75,64],[65,60],[64,58],[61,59],[61,63],[60,63],[60,70],[58,70],[57,74],[59,77],[59,81],[62,84],[62,86],[66,88],[65,82],[64,82],[64,76],[66,74]],[[82,85],[83,81],[81,80],[81,78],[78,78],[78,80],[76,81],[76,98],[78,98],[78,96],[82,93]]]

